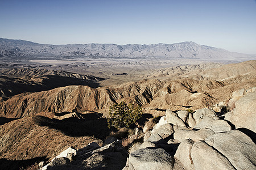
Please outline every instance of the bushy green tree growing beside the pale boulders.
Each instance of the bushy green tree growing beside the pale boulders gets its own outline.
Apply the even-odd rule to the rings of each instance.
[[[141,118],[142,108],[135,107],[134,104],[126,104],[121,102],[109,108],[108,127],[120,129],[123,127],[129,128]]]

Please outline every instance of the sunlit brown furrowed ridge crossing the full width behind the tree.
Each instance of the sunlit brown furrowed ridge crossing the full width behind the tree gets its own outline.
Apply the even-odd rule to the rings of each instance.
[[[20,94],[0,103],[0,115],[17,118],[38,113],[108,112],[109,106],[125,101],[142,105],[145,112],[159,109],[199,109],[227,101],[233,91],[256,86],[255,74],[228,81],[181,79],[143,80],[119,86],[92,88],[68,86],[32,94]]]

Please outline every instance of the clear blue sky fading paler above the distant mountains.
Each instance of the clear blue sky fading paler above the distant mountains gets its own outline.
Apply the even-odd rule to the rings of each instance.
[[[256,54],[256,0],[0,0],[0,37],[40,44],[197,44]]]

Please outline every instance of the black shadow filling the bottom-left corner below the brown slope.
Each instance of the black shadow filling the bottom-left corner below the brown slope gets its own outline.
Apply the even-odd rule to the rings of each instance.
[[[46,157],[36,157],[33,159],[27,159],[27,160],[0,159],[0,169],[19,170],[19,169],[34,165],[35,163],[39,163],[46,160],[47,160]]]

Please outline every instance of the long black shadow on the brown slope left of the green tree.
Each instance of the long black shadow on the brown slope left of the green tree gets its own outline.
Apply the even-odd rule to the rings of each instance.
[[[88,117],[88,120],[76,117],[56,120],[43,116],[35,116],[33,120],[39,126],[48,126],[70,137],[94,136],[99,139],[105,139],[109,135],[110,130],[108,129],[106,118],[93,118],[98,117],[97,113],[84,116]]]

